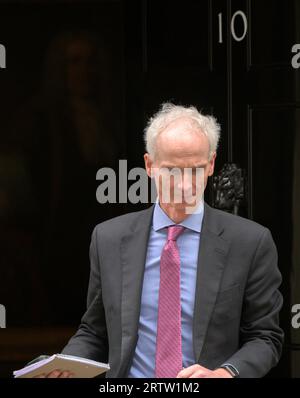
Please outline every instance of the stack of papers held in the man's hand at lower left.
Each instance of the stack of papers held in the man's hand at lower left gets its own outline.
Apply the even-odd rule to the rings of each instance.
[[[42,373],[48,374],[55,369],[59,369],[61,371],[68,370],[73,373],[73,377],[88,378],[107,372],[109,370],[109,365],[72,355],[54,354],[49,358],[42,359],[41,361],[28,365],[23,369],[15,370],[14,376],[30,378]]]

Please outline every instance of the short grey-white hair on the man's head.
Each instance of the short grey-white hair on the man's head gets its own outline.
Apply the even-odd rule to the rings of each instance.
[[[217,151],[220,139],[220,125],[213,116],[203,115],[194,106],[180,106],[166,102],[161,105],[160,110],[149,119],[144,130],[146,150],[152,159],[156,155],[156,140],[159,134],[176,119],[186,117],[196,122],[199,130],[205,134],[209,141],[209,159]]]

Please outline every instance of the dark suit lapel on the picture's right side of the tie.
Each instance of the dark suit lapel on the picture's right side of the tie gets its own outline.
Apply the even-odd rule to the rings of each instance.
[[[196,362],[199,361],[209,320],[222,280],[228,243],[220,236],[214,210],[205,204],[198,255],[196,296],[193,320],[193,344]]]

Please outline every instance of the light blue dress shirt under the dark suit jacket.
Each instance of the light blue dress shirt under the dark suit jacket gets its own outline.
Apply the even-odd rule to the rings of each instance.
[[[183,367],[196,363],[193,350],[193,312],[203,202],[178,225],[186,228],[177,238],[180,252],[181,334]],[[167,241],[167,227],[175,223],[155,204],[145,264],[138,341],[129,377],[155,377],[156,331],[160,257]]]

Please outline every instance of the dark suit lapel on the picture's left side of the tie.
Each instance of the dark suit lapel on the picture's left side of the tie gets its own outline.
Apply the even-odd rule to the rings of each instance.
[[[135,220],[121,242],[122,264],[122,349],[120,374],[126,374],[136,346],[147,244],[153,206]]]

